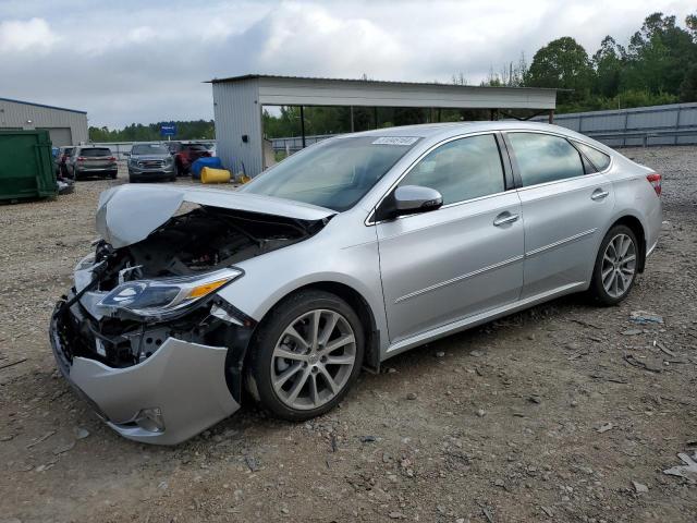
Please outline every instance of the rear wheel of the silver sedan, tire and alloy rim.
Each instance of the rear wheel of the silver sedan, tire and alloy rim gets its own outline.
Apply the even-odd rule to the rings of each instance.
[[[619,256],[616,256],[619,254]],[[639,243],[626,226],[614,226],[600,243],[596,256],[590,295],[602,305],[624,300],[636,280]]]

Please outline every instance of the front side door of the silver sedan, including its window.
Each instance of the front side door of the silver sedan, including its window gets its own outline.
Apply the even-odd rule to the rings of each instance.
[[[494,134],[460,137],[400,182],[439,191],[443,206],[377,224],[392,343],[517,300],[523,223],[503,158]]]

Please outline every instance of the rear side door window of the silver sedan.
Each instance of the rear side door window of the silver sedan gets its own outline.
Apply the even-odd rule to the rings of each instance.
[[[565,138],[540,133],[509,133],[523,186],[585,174],[578,150]]]

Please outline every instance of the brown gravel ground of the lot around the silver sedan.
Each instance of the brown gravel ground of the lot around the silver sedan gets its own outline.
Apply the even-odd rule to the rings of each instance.
[[[0,522],[696,521],[697,473],[662,471],[697,453],[697,149],[623,153],[663,173],[667,221],[620,306],[567,296],[396,356],[310,423],[247,408],[176,448],[103,426],[47,340],[124,173],[0,207]]]

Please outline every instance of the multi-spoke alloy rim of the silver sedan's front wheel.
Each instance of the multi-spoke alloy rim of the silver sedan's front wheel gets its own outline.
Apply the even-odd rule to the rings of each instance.
[[[348,382],[356,363],[356,338],[341,314],[314,309],[285,328],[271,356],[271,385],[289,408],[323,405]]]

